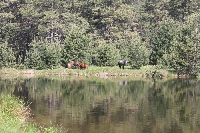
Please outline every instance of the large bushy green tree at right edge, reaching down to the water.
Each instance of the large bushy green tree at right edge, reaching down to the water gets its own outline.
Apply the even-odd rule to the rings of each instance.
[[[174,53],[171,56],[171,66],[179,74],[197,75],[199,72],[198,59],[200,57],[199,37],[193,34],[197,27],[191,24],[184,24],[173,38]]]

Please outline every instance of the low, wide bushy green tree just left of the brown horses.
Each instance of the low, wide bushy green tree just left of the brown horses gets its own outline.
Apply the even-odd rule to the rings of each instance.
[[[26,66],[31,69],[54,69],[61,66],[61,46],[57,43],[32,42]]]

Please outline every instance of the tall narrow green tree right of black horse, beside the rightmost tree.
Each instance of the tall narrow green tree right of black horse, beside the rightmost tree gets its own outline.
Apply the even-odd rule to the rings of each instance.
[[[155,33],[152,36],[152,51],[150,54],[150,64],[162,64],[168,66],[166,56],[171,54],[171,41],[176,33],[176,24],[172,19],[163,19],[158,23]]]

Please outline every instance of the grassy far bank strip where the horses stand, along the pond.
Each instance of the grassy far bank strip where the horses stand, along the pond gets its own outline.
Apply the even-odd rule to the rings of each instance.
[[[12,76],[97,76],[97,77],[138,77],[138,78],[176,78],[177,75],[171,71],[157,68],[156,66],[144,66],[140,69],[131,69],[126,66],[125,69],[119,69],[117,66],[114,67],[96,67],[90,66],[89,69],[67,69],[58,68],[52,70],[18,70],[12,68],[4,68],[0,70],[0,75],[12,75]],[[184,77],[184,75],[182,75]]]

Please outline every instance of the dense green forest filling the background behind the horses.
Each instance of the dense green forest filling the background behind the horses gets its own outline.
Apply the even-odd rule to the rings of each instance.
[[[0,68],[200,68],[199,0],[1,0]]]

